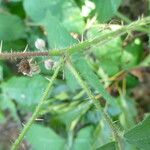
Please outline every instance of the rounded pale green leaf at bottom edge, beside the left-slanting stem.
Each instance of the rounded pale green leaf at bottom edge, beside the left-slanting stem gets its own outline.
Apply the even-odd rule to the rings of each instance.
[[[26,140],[34,150],[63,150],[65,140],[51,128],[33,124],[26,135]]]

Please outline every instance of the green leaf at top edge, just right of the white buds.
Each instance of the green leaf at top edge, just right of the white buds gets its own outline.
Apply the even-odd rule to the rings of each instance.
[[[100,22],[106,22],[117,12],[122,0],[94,0]]]

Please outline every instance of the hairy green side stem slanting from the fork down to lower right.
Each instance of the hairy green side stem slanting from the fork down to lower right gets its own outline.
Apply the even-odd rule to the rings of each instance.
[[[95,96],[92,94],[92,92],[89,89],[89,87],[87,86],[86,82],[82,79],[82,77],[76,71],[76,69],[71,64],[71,62],[67,62],[66,65],[67,65],[67,68],[72,72],[72,74],[74,75],[74,77],[77,79],[77,81],[79,82],[79,84],[81,85],[81,87],[84,89],[84,91],[88,95],[89,99],[93,101],[93,104],[95,105],[95,107],[97,108],[97,110],[100,111],[103,114],[104,119],[109,124],[109,126],[110,126],[110,128],[111,128],[111,130],[112,130],[112,132],[114,134],[114,138],[118,142],[118,146],[119,146],[120,150],[124,150],[124,143],[123,143],[122,137],[121,137],[121,135],[119,133],[119,130],[113,124],[113,121],[110,118],[110,116],[107,114],[107,112],[105,112],[102,109],[99,101],[95,99]]]

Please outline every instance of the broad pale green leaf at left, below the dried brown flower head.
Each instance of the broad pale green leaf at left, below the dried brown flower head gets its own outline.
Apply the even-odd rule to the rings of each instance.
[[[42,92],[47,86],[44,77],[12,77],[1,84],[5,99],[13,99],[22,105],[35,105],[39,102]]]

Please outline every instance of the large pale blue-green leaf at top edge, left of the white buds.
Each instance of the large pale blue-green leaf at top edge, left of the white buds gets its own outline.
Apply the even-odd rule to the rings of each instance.
[[[24,0],[23,5],[27,15],[35,22],[45,19],[49,11],[69,32],[83,32],[84,20],[73,0]]]

